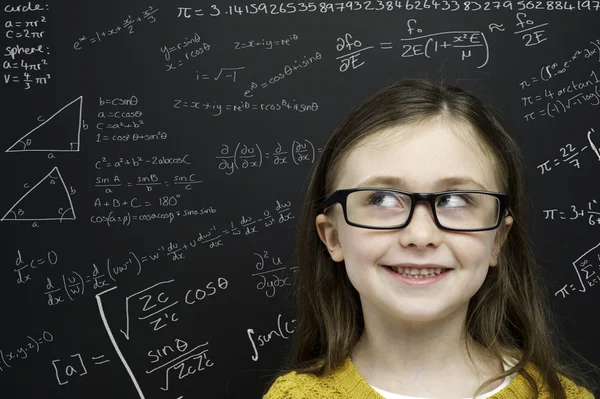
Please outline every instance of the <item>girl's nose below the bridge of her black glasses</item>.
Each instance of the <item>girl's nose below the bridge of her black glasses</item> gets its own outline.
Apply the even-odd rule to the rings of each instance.
[[[435,224],[433,210],[427,201],[419,201],[415,205],[410,223],[400,229],[402,246],[437,247],[442,239],[442,231]]]

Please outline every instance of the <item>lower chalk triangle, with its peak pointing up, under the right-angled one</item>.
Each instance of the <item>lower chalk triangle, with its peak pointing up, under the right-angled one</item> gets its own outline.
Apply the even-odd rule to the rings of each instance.
[[[31,187],[0,221],[75,220],[69,190],[57,167]]]

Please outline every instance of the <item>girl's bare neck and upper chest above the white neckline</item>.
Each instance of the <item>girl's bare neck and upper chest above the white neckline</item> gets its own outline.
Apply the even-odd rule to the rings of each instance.
[[[463,397],[467,397],[473,394],[473,386],[476,389],[503,371],[500,361],[466,334],[466,309],[428,322],[382,320],[374,316],[377,313],[363,310],[365,330],[351,357],[359,373],[373,386],[423,396],[426,391],[435,395],[439,393],[436,389],[442,391],[462,381],[468,391]],[[464,384],[466,381],[471,383]]]

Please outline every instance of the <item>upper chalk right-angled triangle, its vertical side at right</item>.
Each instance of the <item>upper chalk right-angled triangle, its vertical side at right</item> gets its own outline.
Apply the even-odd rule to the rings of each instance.
[[[79,96],[17,140],[6,152],[79,151],[82,112],[83,96]]]

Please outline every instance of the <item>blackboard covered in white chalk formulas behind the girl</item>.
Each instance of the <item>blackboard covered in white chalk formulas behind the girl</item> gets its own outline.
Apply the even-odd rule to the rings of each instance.
[[[600,366],[600,2],[3,6],[0,386],[258,398],[295,329],[307,176],[402,77],[517,138],[564,341]]]

